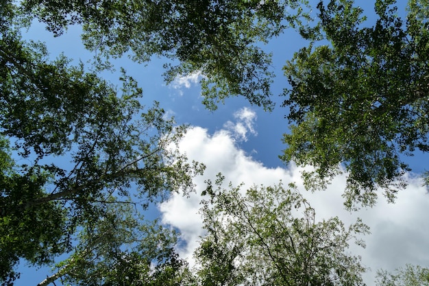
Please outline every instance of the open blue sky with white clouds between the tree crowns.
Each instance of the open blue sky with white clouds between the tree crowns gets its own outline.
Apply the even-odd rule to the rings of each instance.
[[[64,52],[69,58],[85,62],[92,55],[82,47],[79,32],[79,27],[72,27],[65,35],[53,38],[43,30],[42,25],[35,24],[27,36],[47,42],[51,57]],[[414,173],[406,174],[409,185],[397,195],[395,204],[388,204],[380,196],[373,208],[353,213],[343,208],[341,193],[345,186],[344,175],[334,178],[326,191],[312,193],[302,187],[302,168],[293,163],[285,165],[278,158],[285,148],[282,134],[287,132],[288,123],[284,119],[287,110],[280,107],[284,97],[278,96],[287,84],[282,66],[291,58],[293,51],[305,45],[297,34],[288,30],[266,47],[273,51],[273,69],[277,75],[272,86],[273,101],[277,106],[272,112],[251,106],[240,97],[226,99],[218,110],[210,112],[201,104],[201,75],[177,78],[167,85],[162,79],[162,59],[154,58],[147,66],[127,59],[114,62],[117,67],[125,67],[143,88],[145,104],[150,105],[157,100],[167,115],[175,117],[177,123],[191,126],[180,142],[180,150],[186,152],[190,160],[198,160],[207,167],[204,176],[195,178],[195,193],[188,198],[180,194],[172,195],[167,202],[157,206],[157,214],[162,217],[162,222],[180,230],[183,243],[178,251],[192,265],[193,250],[204,235],[198,214],[200,193],[206,186],[204,180],[215,180],[216,174],[221,172],[226,182],[233,185],[243,182],[245,187],[253,184],[268,186],[280,181],[284,184],[295,182],[315,208],[318,219],[339,216],[347,225],[360,217],[370,226],[371,234],[363,237],[367,247],[350,247],[350,252],[360,255],[363,265],[371,269],[364,274],[367,285],[373,284],[376,271],[380,268],[394,270],[406,263],[429,267],[429,195],[418,178],[418,173],[426,167],[428,156],[407,159]],[[115,82],[118,74],[106,73],[106,78]],[[51,274],[46,267],[34,270],[23,265],[19,270],[23,273],[16,282],[18,286],[37,285]]]

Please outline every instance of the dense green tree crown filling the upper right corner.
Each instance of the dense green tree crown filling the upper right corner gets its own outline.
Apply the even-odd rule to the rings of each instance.
[[[315,167],[308,182],[322,186],[344,168],[349,208],[373,205],[379,188],[392,201],[406,184],[403,156],[429,151],[429,7],[408,1],[403,20],[394,4],[377,0],[365,27],[354,1],[321,1],[319,30],[303,33],[312,43],[284,67],[293,126],[282,158]]]

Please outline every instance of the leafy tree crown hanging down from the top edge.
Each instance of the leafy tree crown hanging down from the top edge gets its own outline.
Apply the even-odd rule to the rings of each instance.
[[[84,44],[102,56],[178,60],[166,65],[167,82],[201,73],[204,104],[212,110],[234,95],[270,109],[271,58],[259,46],[299,21],[305,2],[25,0],[22,9],[56,35],[82,25]]]

